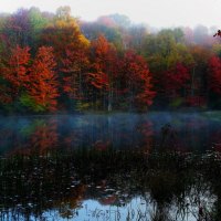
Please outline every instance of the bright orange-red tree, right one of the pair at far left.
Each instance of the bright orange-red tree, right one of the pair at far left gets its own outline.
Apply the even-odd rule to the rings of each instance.
[[[53,71],[55,65],[53,49],[41,46],[30,70],[29,87],[29,95],[42,107],[41,110],[56,109],[59,93],[56,75]]]

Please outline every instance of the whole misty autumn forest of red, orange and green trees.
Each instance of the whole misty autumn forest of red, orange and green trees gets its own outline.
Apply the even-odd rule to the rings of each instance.
[[[220,109],[221,38],[157,30],[126,15],[94,22],[38,8],[0,14],[0,113]]]

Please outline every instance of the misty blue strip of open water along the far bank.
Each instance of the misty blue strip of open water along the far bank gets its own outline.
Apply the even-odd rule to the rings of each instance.
[[[1,117],[0,147],[1,154],[78,147],[219,150],[221,120],[215,119],[211,114],[172,113]]]

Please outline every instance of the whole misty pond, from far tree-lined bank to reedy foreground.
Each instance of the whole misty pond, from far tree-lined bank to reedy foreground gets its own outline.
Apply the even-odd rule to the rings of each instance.
[[[221,113],[0,117],[0,220],[221,220]]]

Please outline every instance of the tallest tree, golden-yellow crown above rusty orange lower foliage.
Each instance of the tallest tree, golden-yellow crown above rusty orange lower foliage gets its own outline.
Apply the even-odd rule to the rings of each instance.
[[[88,40],[82,34],[69,7],[57,9],[54,22],[44,29],[42,44],[53,46],[61,82],[61,98],[73,101],[84,96],[83,80],[88,65]]]

